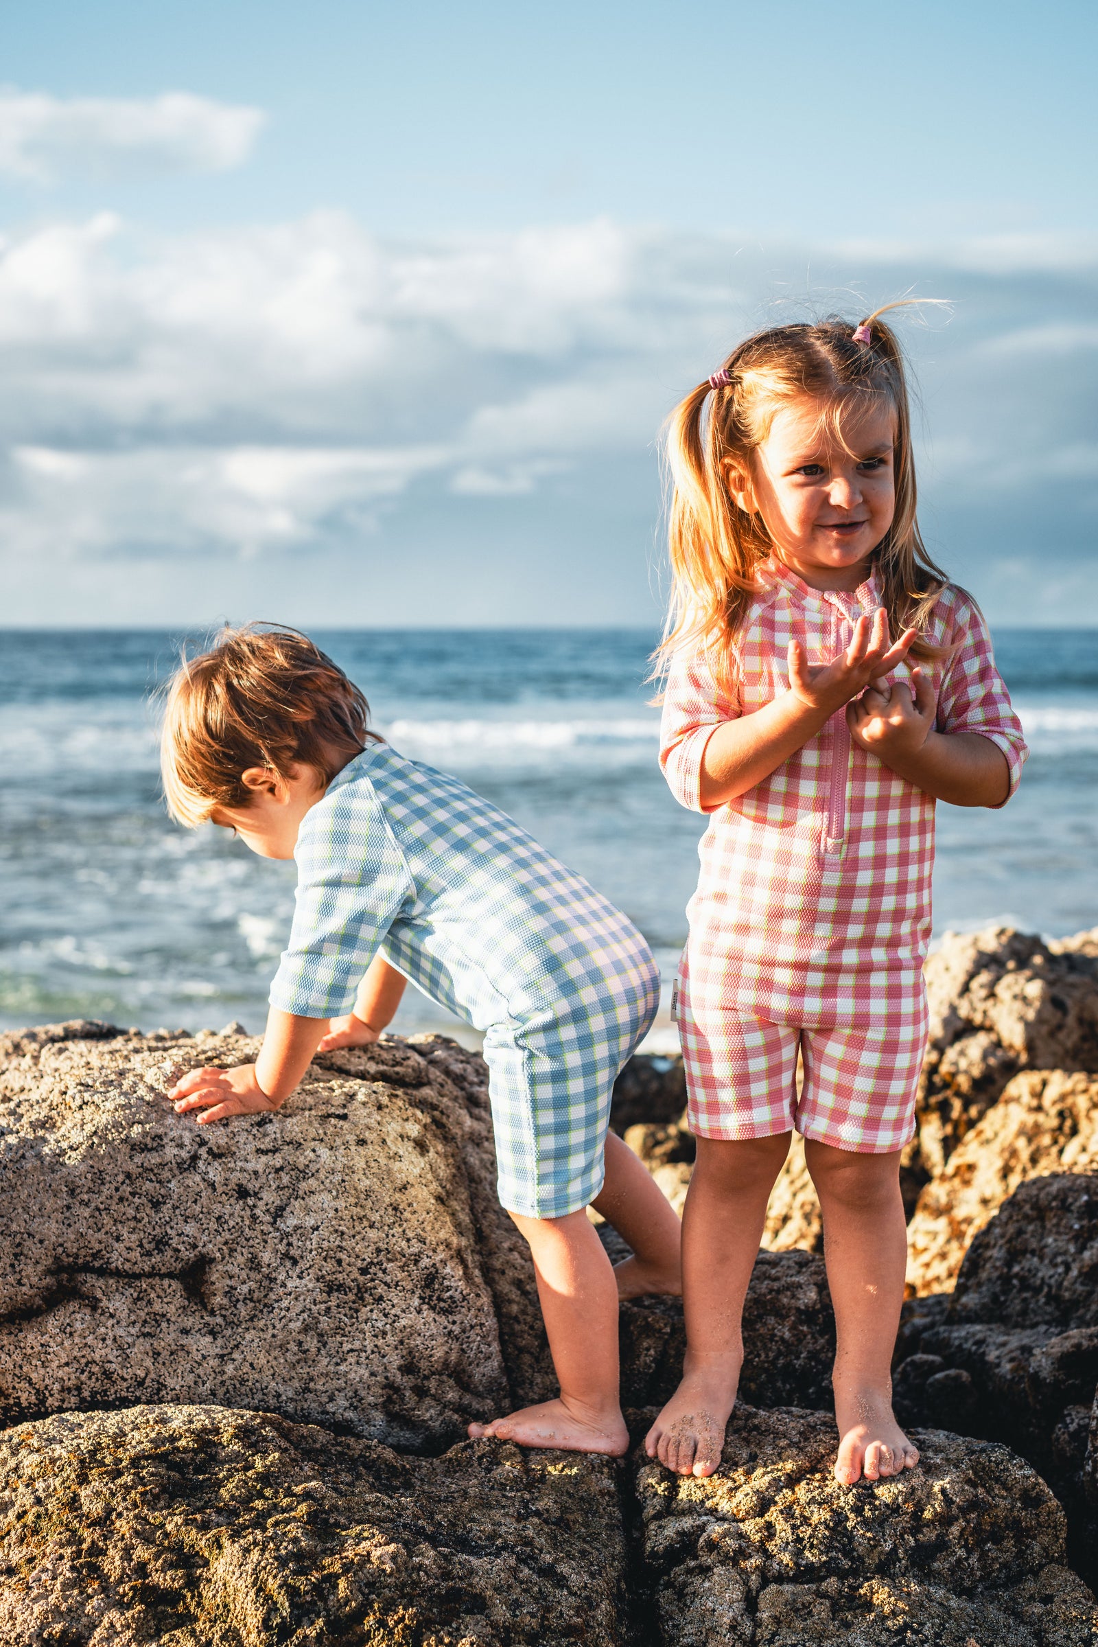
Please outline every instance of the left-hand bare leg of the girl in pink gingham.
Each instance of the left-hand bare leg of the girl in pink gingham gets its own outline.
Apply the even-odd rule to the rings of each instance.
[[[744,1298],[789,1140],[698,1138],[683,1209],[683,1380],[645,1439],[649,1458],[680,1476],[711,1476],[721,1463],[744,1359]]]

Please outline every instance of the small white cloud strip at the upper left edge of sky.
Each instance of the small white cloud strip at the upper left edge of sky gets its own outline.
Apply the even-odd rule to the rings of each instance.
[[[130,171],[227,171],[265,115],[191,92],[49,97],[0,91],[0,173],[36,183]]]

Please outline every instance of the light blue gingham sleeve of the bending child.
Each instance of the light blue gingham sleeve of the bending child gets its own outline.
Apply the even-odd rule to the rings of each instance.
[[[270,1003],[298,1018],[334,1018],[354,1005],[362,973],[412,899],[412,876],[361,779],[305,815],[295,858],[293,927]]]

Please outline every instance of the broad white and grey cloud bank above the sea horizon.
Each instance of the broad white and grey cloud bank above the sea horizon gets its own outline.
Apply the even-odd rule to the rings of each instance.
[[[1078,539],[1098,257],[1065,272],[1049,250],[1045,272],[1012,275],[912,250],[900,282],[881,249],[830,255],[825,288],[821,254],[782,252],[787,272],[812,267],[820,308],[853,315],[854,283],[956,300],[948,324],[900,321],[932,511],[975,511],[988,553],[1026,519]],[[12,236],[0,555],[308,553],[416,520],[433,542],[461,511],[514,532],[527,509],[533,537],[550,507],[575,542],[619,519],[644,553],[660,422],[736,336],[790,315],[774,270],[728,236],[606,221],[420,245],[336,212],[176,237],[100,214]]]

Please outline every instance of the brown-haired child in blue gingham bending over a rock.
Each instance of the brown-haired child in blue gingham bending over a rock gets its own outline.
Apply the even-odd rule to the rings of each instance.
[[[504,812],[367,731],[367,713],[293,631],[227,631],[174,677],[173,817],[298,863],[257,1062],[193,1071],[174,1107],[199,1122],[277,1110],[316,1051],[377,1041],[408,978],[484,1029],[499,1196],[530,1243],[560,1397],[469,1435],[624,1453],[617,1298],[680,1290],[678,1219],[607,1135],[614,1079],[658,1003],[652,952]],[[617,1271],[588,1206],[634,1248]]]

